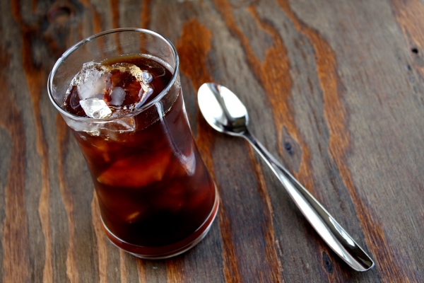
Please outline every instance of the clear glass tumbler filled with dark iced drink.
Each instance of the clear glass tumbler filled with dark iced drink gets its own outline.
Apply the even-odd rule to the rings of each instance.
[[[57,61],[47,89],[86,158],[114,245],[169,258],[206,236],[218,193],[192,137],[169,40],[139,28],[88,37]]]

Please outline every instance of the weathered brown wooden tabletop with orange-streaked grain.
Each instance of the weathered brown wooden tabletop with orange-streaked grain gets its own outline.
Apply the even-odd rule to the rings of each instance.
[[[424,282],[424,1],[1,1],[0,282]],[[47,97],[54,62],[102,30],[175,43],[221,197],[208,236],[140,260],[107,241],[83,156]],[[252,132],[374,258],[354,272],[246,141],[196,105],[216,81]]]

